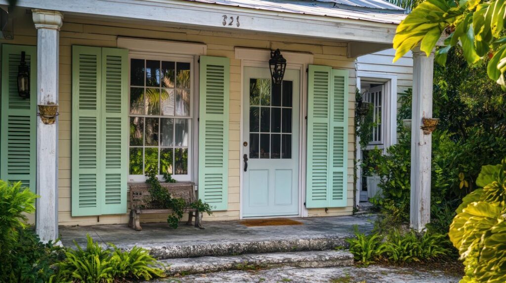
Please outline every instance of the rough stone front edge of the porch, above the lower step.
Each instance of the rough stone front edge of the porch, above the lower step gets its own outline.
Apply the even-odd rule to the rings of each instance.
[[[347,248],[346,239],[350,237],[325,237],[307,239],[284,239],[248,242],[204,243],[196,245],[142,246],[157,259],[189,258],[203,256],[230,256],[241,254],[260,254],[276,252],[323,251],[335,247]],[[120,247],[129,249],[131,247]]]

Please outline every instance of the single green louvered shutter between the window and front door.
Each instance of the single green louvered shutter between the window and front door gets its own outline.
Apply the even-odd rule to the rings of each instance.
[[[230,61],[200,56],[199,198],[213,210],[228,206]]]

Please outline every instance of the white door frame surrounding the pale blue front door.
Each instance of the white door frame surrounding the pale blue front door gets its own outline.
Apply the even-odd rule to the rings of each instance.
[[[235,58],[241,60],[241,102],[240,102],[240,145],[239,145],[239,157],[242,157],[243,146],[242,142],[244,141],[243,137],[243,87],[244,87],[244,67],[261,67],[261,68],[269,68],[269,59],[271,50],[269,49],[253,49],[253,48],[235,48]],[[313,54],[310,53],[299,53],[299,52],[288,52],[281,50],[281,54],[286,59],[286,68],[300,70],[300,103],[299,103],[299,217],[307,217],[308,210],[304,205],[306,200],[306,133],[307,133],[307,125],[306,125],[306,116],[307,116],[307,79],[306,70],[310,64],[313,64]],[[239,219],[242,219],[242,196],[243,196],[243,162],[242,159],[239,161]],[[279,216],[265,216],[265,217],[255,217],[255,218],[277,218]],[[291,216],[293,217],[293,216]],[[249,217],[248,217],[249,218]]]

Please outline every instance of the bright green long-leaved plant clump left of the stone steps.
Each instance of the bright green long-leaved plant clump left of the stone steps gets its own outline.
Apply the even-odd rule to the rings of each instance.
[[[65,253],[66,258],[56,264],[58,271],[52,275],[51,282],[109,283],[164,276],[159,263],[143,248],[122,251],[109,244],[111,249],[104,249],[90,235],[87,238],[86,249],[75,243],[76,249]]]

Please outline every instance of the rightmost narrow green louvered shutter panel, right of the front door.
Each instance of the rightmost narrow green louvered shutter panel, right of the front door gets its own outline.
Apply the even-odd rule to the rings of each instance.
[[[348,71],[332,70],[330,93],[329,207],[346,206],[348,174]]]

